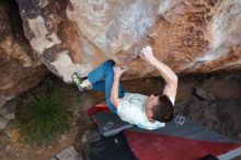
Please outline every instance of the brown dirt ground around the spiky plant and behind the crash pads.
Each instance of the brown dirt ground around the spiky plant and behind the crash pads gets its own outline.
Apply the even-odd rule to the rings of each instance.
[[[74,98],[72,110],[76,121],[71,125],[71,129],[51,146],[31,147],[19,142],[19,135],[9,127],[7,130],[0,132],[0,160],[48,160],[69,145],[73,145],[80,151],[93,140],[93,133],[97,133],[96,126],[85,111],[101,102],[104,99],[104,93],[95,91],[80,93],[74,85],[66,84],[53,75],[49,75],[45,81],[55,84],[55,87],[67,88],[69,94]],[[128,92],[147,95],[163,89],[161,78],[123,81],[123,84]],[[216,98],[216,101],[198,99],[193,93],[194,87],[210,93]],[[21,101],[21,96],[9,103],[14,105],[14,101]],[[241,72],[180,77],[175,111],[241,141]]]

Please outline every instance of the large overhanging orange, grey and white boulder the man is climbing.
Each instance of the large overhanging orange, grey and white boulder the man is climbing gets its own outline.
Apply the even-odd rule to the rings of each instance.
[[[126,78],[158,76],[141,59],[149,44],[176,72],[241,68],[240,0],[16,0],[25,35],[65,81],[108,58],[128,62]]]

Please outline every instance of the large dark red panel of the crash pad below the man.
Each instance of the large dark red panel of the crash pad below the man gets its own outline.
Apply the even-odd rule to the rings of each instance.
[[[220,156],[241,147],[239,144],[194,140],[152,133],[125,130],[124,135],[139,160],[198,160]]]

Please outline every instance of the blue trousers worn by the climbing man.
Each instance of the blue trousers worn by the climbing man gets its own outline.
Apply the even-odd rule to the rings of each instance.
[[[108,108],[113,113],[117,113],[116,107],[111,102],[111,91],[114,81],[113,66],[115,66],[114,60],[106,60],[104,64],[102,64],[96,69],[91,71],[88,75],[88,79],[92,83],[94,90],[105,91],[105,101]],[[122,84],[119,84],[118,98],[124,98],[124,95],[125,95],[125,90],[123,89]]]

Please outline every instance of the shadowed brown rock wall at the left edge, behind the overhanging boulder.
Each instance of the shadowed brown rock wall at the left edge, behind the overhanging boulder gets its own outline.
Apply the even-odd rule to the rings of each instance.
[[[16,7],[0,2],[0,108],[14,95],[36,85],[48,72],[32,53]]]

